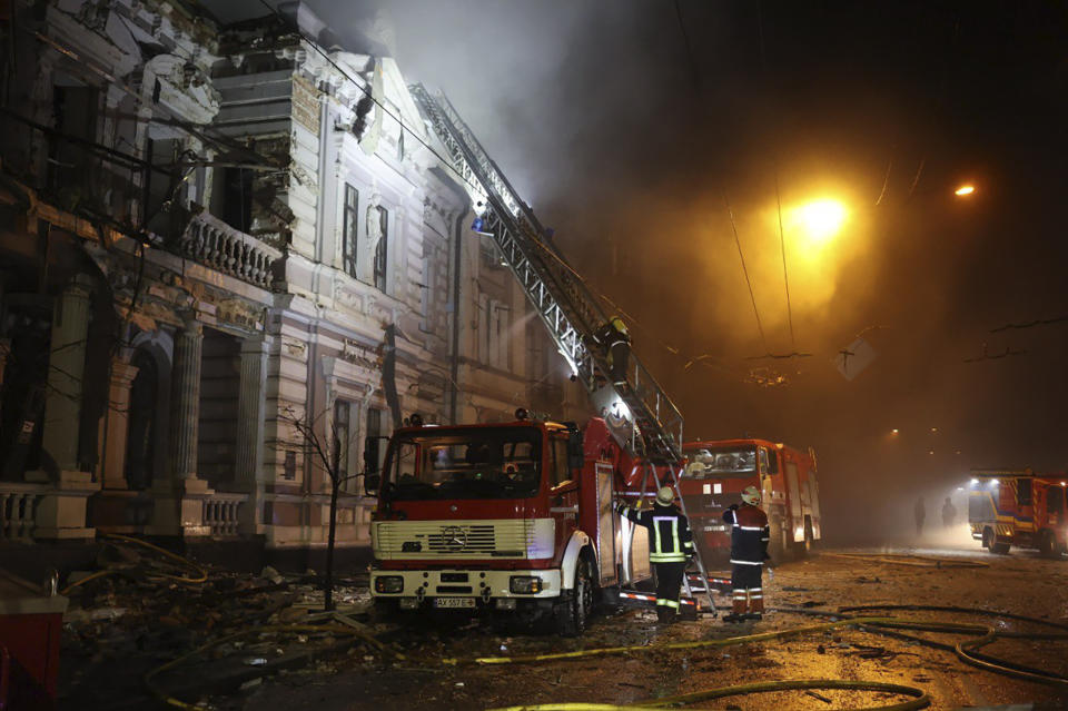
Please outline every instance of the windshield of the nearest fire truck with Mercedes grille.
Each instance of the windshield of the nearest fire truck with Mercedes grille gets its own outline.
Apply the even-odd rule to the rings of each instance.
[[[386,458],[393,501],[525,498],[541,484],[534,427],[432,428],[398,435]]]

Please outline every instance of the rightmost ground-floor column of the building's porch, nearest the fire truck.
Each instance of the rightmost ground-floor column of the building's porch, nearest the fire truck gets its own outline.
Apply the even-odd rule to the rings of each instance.
[[[270,337],[241,342],[240,396],[237,404],[237,471],[235,486],[246,492],[241,506],[241,533],[257,533],[263,524],[264,436],[267,409],[267,357]]]

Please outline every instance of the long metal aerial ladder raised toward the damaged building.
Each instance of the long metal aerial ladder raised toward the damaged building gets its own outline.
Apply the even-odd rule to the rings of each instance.
[[[482,225],[478,231],[492,236],[556,347],[594,402],[605,388],[614,389],[630,412],[630,453],[669,467],[682,502],[675,475],[682,466],[682,413],[633,354],[626,384],[612,384],[607,355],[594,337],[607,316],[585,282],[556,249],[534,210],[520,199],[448,99],[432,97],[423,85],[414,85],[409,90],[463,179]],[[706,581],[700,552],[696,560]],[[709,604],[714,612],[711,593]]]

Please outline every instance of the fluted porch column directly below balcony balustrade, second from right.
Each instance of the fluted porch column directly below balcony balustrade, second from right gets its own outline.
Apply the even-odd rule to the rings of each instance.
[[[200,358],[204,326],[187,320],[175,334],[171,368],[170,473],[176,482],[197,478],[197,440],[200,432]]]

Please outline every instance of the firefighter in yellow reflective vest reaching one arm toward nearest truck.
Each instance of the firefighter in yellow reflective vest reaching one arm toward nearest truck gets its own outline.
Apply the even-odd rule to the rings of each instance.
[[[650,511],[637,511],[622,502],[616,506],[621,516],[649,529],[649,560],[656,566],[656,619],[665,624],[674,622],[679,613],[682,575],[693,554],[690,522],[674,501],[671,486],[661,486]]]

